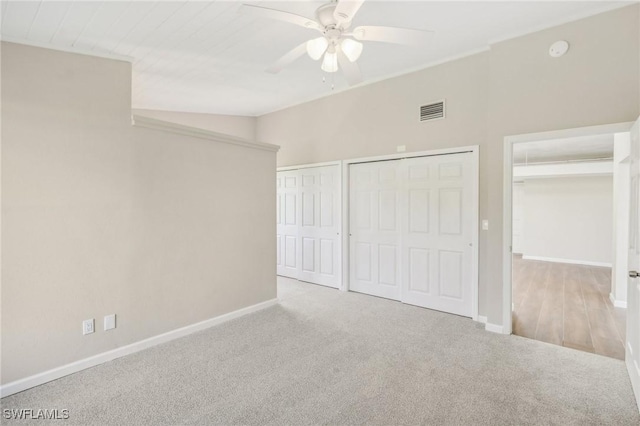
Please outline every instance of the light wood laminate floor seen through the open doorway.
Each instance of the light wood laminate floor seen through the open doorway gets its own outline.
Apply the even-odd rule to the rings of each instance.
[[[513,334],[624,359],[626,309],[609,300],[611,268],[513,257]]]

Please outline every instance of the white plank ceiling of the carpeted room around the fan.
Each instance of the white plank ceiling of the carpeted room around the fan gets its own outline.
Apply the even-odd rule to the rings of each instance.
[[[322,82],[304,56],[278,75],[265,68],[317,32],[240,15],[240,1],[2,1],[2,38],[133,62],[135,108],[261,115],[347,87]],[[314,17],[322,1],[247,1]],[[484,49],[489,43],[630,2],[368,0],[353,25],[434,30],[428,48],[367,42],[367,82]],[[331,82],[335,84],[332,92]]]

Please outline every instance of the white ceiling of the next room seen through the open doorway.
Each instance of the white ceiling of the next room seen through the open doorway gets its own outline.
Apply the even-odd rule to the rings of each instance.
[[[551,139],[513,146],[514,164],[613,158],[613,135]]]

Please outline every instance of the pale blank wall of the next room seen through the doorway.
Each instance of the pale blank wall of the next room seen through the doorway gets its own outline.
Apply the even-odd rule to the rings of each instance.
[[[611,265],[612,176],[530,179],[523,195],[525,257]]]

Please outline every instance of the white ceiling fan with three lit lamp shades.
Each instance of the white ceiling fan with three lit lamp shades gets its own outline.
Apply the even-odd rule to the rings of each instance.
[[[351,22],[364,0],[333,0],[316,10],[316,20],[282,10],[244,4],[240,12],[263,18],[276,19],[319,31],[322,36],[298,45],[273,65],[267,72],[278,73],[307,53],[311,59],[322,59],[321,69],[333,73],[342,69],[349,85],[362,81],[356,61],[362,54],[361,41],[423,45],[433,36],[433,31],[411,30],[396,27],[359,26],[352,30]]]

